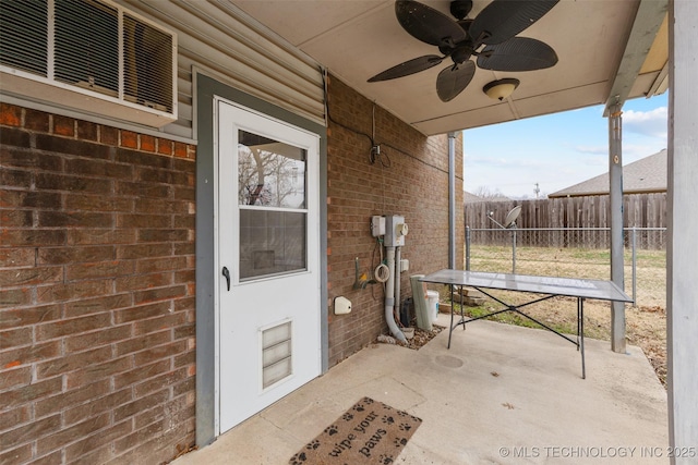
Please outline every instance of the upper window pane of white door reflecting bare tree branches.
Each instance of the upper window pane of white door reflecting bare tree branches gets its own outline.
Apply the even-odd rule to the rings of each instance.
[[[238,204],[305,208],[305,149],[238,131]]]

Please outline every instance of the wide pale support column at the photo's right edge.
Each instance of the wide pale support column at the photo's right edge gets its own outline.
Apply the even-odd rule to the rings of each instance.
[[[666,348],[672,451],[698,448],[698,2],[669,2],[669,179]],[[672,464],[696,456],[673,454]]]

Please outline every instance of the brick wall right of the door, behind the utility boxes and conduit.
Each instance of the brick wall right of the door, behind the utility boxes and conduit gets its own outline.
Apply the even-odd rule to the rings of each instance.
[[[329,365],[387,333],[382,285],[354,290],[354,259],[371,273],[380,252],[369,228],[373,215],[401,215],[409,225],[402,258],[401,297],[411,295],[409,276],[448,267],[448,138],[425,137],[339,79],[328,85],[327,138]],[[383,162],[370,162],[373,113]],[[462,139],[456,142],[456,205],[462,205]],[[387,166],[389,163],[389,166]],[[464,219],[456,215],[457,266],[462,267]],[[334,315],[334,297],[352,302]]]

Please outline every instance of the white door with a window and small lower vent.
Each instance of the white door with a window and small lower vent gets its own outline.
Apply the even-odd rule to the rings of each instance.
[[[320,138],[217,105],[218,431],[321,372]]]

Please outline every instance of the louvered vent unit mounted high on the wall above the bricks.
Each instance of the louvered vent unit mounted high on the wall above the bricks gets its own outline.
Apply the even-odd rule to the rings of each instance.
[[[177,120],[177,37],[107,0],[0,0],[0,88],[151,126]]]

